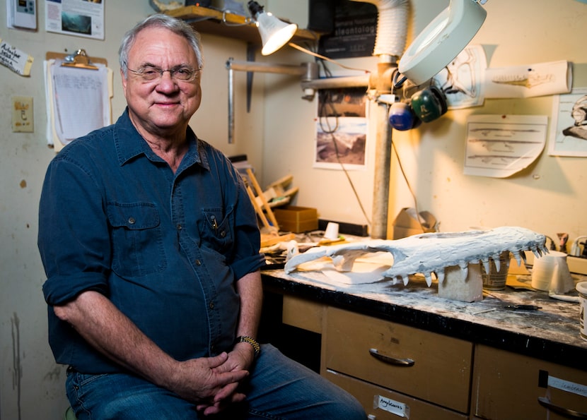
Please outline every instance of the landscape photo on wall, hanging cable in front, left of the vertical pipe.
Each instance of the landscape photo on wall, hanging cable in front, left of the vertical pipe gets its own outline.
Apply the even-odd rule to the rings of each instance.
[[[314,167],[365,168],[366,106],[365,88],[320,90]]]

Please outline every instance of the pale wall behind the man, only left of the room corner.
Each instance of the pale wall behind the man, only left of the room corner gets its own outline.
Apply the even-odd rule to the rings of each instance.
[[[54,363],[47,344],[47,309],[41,287],[45,281],[37,251],[37,212],[40,188],[54,150],[45,140],[45,91],[42,64],[45,52],[74,52],[84,48],[88,55],[107,59],[115,71],[112,99],[114,119],[124,110],[118,75],[120,39],[135,22],[153,13],[147,0],[105,2],[105,40],[45,32],[45,1],[37,0],[36,32],[6,28],[6,7],[0,7],[0,38],[35,59],[28,78],[0,66],[0,420],[61,419],[65,370]],[[228,57],[245,59],[245,44],[238,40],[202,35],[205,69],[202,73],[202,107],[192,119],[201,138],[227,155],[245,153],[255,167],[261,166],[264,102],[257,95],[250,114],[245,110],[245,76],[236,80],[239,127],[236,143],[228,145]],[[260,91],[262,76],[255,76]],[[33,97],[34,133],[12,133],[11,97]]]

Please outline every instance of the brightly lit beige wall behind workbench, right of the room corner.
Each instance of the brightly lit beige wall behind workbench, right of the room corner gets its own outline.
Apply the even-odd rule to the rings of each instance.
[[[414,31],[418,33],[448,1],[411,3]],[[277,15],[280,4],[271,2]],[[490,0],[484,7],[487,20],[472,43],[483,45],[488,66],[568,60],[575,64],[575,86],[587,85],[587,52],[581,36],[581,25],[587,22],[586,4],[576,0]],[[282,57],[284,54],[279,58]],[[291,49],[289,59],[294,63],[311,60],[304,54],[292,53]],[[376,68],[374,58],[342,62],[373,71]],[[273,85],[269,88],[265,95],[265,181],[277,179],[285,171],[291,172],[301,188],[298,205],[318,208],[321,217],[332,220],[365,223],[344,174],[312,167],[315,104],[298,99],[299,85],[288,85],[281,90]],[[486,100],[484,107],[448,112],[417,130],[394,131],[393,140],[417,196],[419,210],[432,212],[443,232],[472,226],[518,225],[555,240],[558,232],[569,233],[571,240],[587,234],[585,158],[552,157],[545,151],[537,162],[507,179],[463,175],[467,116],[550,116],[551,112],[552,97]],[[376,151],[371,149],[371,152]],[[388,227],[401,208],[414,207],[395,155],[390,177]],[[372,167],[366,172],[351,173],[351,178],[359,186],[364,205],[371,209]],[[371,210],[368,215],[371,216]]]

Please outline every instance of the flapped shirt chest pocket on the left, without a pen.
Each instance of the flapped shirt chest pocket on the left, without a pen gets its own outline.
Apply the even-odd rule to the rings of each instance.
[[[165,269],[161,219],[151,203],[108,203],[112,229],[112,270],[141,277]]]

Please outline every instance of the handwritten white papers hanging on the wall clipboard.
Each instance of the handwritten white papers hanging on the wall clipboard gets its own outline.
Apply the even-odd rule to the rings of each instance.
[[[111,124],[112,71],[100,63],[91,67],[64,59],[45,61],[47,143],[56,151]]]

